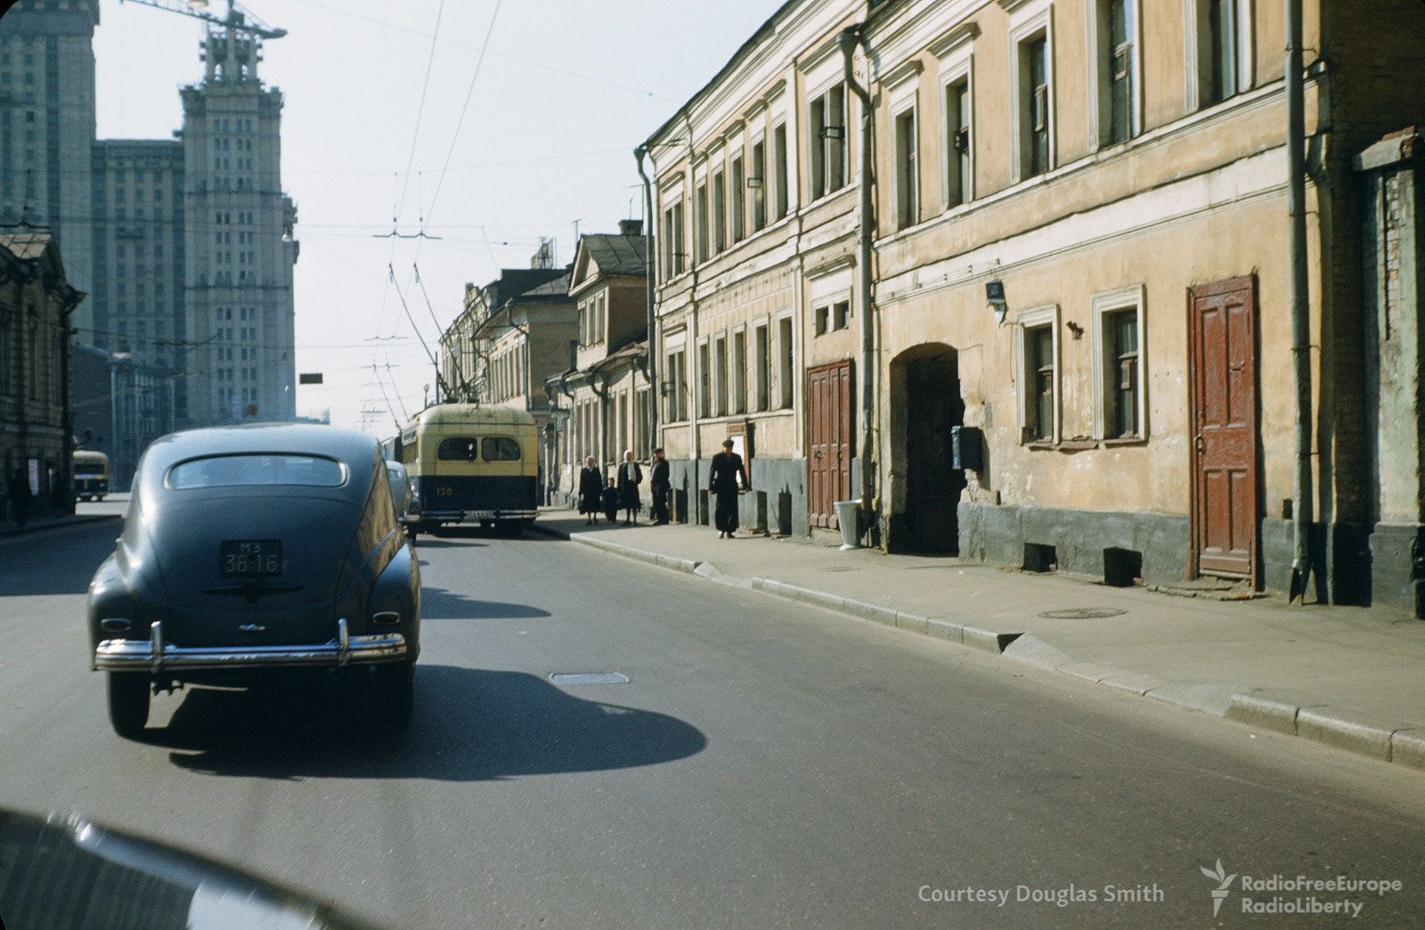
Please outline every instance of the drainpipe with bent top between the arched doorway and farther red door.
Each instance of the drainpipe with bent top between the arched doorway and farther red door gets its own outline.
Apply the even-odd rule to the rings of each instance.
[[[876,328],[871,304],[871,238],[874,214],[871,201],[871,94],[856,81],[852,56],[859,44],[869,58],[871,48],[862,34],[862,24],[848,27],[836,36],[846,71],[846,87],[861,101],[861,201],[856,207],[856,292],[861,302],[861,511],[866,529],[875,531],[875,431],[876,418]]]

